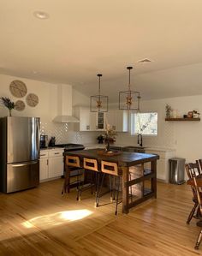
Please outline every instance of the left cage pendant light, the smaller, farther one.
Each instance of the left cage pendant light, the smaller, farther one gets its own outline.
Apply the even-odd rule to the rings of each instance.
[[[107,112],[108,111],[108,96],[100,94],[100,78],[103,74],[97,74],[99,78],[98,95],[91,96],[91,112]]]

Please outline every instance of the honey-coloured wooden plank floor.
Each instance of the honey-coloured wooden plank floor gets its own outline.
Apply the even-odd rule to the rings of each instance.
[[[113,204],[94,208],[90,193],[79,202],[75,191],[62,197],[62,182],[0,193],[0,255],[202,255],[202,245],[193,249],[196,220],[186,224],[193,206],[186,184],[158,183],[157,199],[128,215],[120,205],[116,217]]]

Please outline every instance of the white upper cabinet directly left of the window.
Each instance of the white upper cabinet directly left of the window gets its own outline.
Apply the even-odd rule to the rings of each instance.
[[[128,132],[128,110],[109,110],[106,113],[106,122],[116,132]]]

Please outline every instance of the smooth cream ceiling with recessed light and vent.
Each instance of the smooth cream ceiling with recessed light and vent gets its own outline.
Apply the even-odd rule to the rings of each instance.
[[[202,94],[201,0],[0,0],[0,73],[117,101]],[[33,12],[45,11],[39,20]],[[149,58],[151,63],[138,63]]]

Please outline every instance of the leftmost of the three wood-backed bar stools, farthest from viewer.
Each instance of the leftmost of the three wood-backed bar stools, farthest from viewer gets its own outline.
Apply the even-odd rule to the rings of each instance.
[[[68,188],[68,193],[70,191],[70,186],[73,184],[77,184],[77,189],[78,189],[78,184],[80,180],[80,176],[82,176],[83,168],[80,164],[80,158],[77,156],[66,156],[65,157],[65,180],[64,180],[64,185],[62,189],[62,194],[66,193],[66,190]],[[71,174],[72,173],[72,174]],[[71,178],[76,177],[76,182],[70,182]]]

